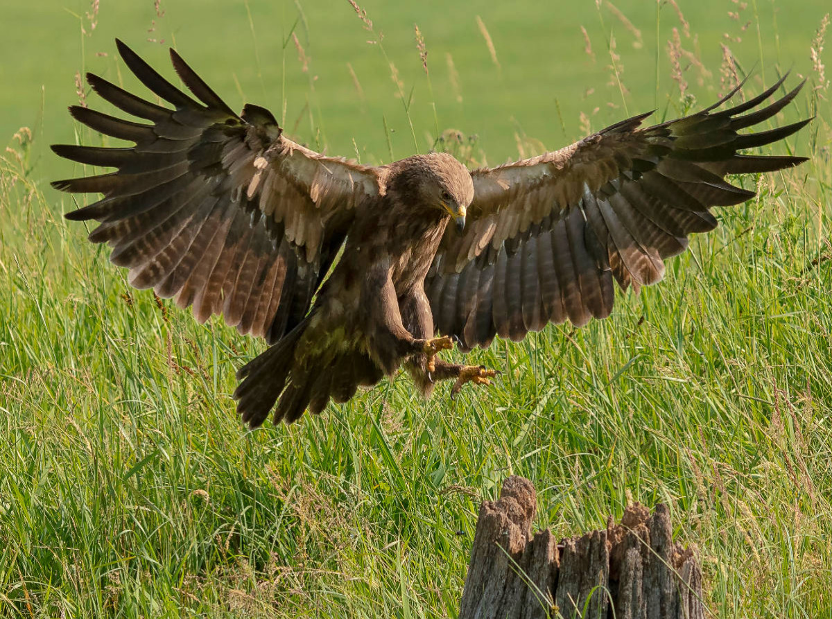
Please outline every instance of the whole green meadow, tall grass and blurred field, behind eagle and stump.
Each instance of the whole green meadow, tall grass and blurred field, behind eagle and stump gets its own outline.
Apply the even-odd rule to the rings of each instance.
[[[668,503],[712,617],[832,616],[830,5],[676,2],[361,2],[371,30],[347,0],[7,2],[0,617],[456,617],[478,505],[512,473],[560,536]],[[234,371],[264,344],[130,290],[47,185],[85,172],[49,144],[106,140],[66,112],[110,109],[76,76],[146,94],[113,37],[368,163],[495,165],[791,70],[776,123],[816,118],[774,150],[811,161],[736,181],[759,197],[610,319],[474,352],[504,371],[489,389],[423,402],[399,377],[246,433]]]

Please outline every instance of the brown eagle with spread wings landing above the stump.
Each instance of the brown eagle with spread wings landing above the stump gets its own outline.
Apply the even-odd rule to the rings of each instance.
[[[655,284],[691,232],[716,227],[711,206],[749,200],[726,174],[782,170],[797,156],[739,151],[790,136],[808,121],[740,134],[770,119],[783,84],[739,105],[715,105],[641,127],[628,118],[560,151],[468,171],[443,153],[361,166],[287,139],[275,117],[238,115],[179,54],[171,60],[196,99],[116,40],[126,66],[160,106],[87,75],[106,101],[140,122],[72,106],[77,121],[135,146],[52,146],[117,171],[52,185],[103,198],[68,213],[97,220],[93,243],[130,270],[136,288],[222,313],[265,337],[240,369],[237,409],[251,428],[275,409],[287,423],[329,399],[346,402],[400,366],[428,395],[436,381],[488,384],[492,370],[436,354],[457,342],[515,341],[547,323],[577,327],[612,310],[622,290]],[[275,402],[277,403],[275,408]]]

